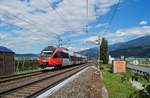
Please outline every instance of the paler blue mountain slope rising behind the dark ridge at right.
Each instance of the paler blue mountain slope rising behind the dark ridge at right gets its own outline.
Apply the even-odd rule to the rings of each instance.
[[[115,51],[118,49],[125,49],[125,48],[133,48],[133,47],[140,47],[150,45],[150,35],[143,36],[128,42],[123,43],[116,43],[109,46],[109,51]]]

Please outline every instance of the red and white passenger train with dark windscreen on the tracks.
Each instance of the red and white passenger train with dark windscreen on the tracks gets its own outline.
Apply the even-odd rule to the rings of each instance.
[[[63,47],[48,46],[41,51],[40,67],[44,69],[84,64],[87,57]]]

